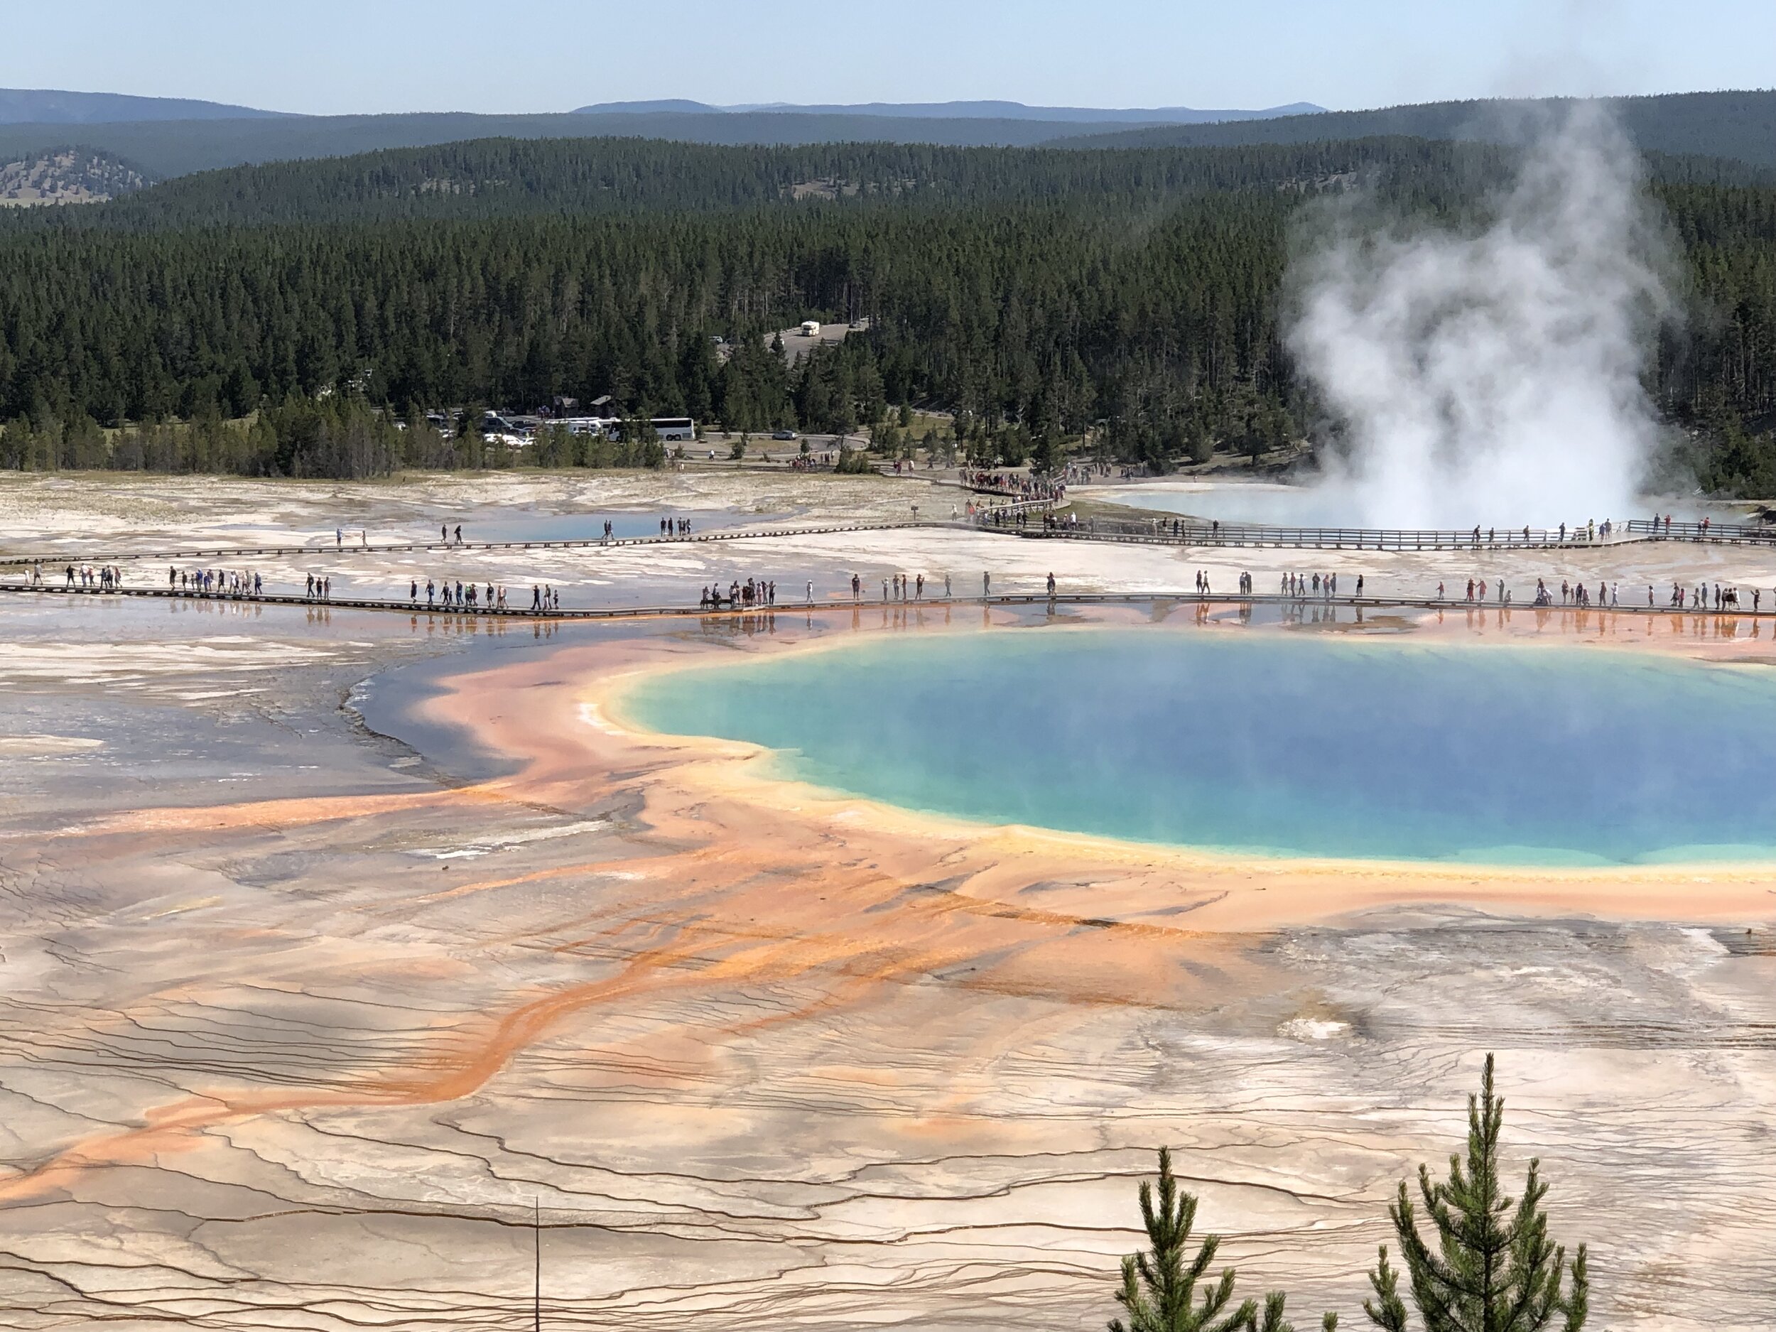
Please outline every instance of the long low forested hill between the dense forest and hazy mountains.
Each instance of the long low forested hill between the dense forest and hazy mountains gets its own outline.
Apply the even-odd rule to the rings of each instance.
[[[1513,163],[1511,149],[1423,139],[1094,153],[483,139],[183,176],[105,208],[59,217],[55,226],[155,231],[817,202],[1057,202],[1128,215],[1202,192],[1316,194],[1359,183],[1408,206],[1444,210],[1502,185]],[[1657,179],[1673,183],[1776,183],[1772,170],[1719,158],[1655,156],[1650,167]]]

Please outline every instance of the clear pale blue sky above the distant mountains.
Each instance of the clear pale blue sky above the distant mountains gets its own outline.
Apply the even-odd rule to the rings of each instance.
[[[0,87],[309,114],[1332,108],[1776,83],[1772,0],[5,0]]]

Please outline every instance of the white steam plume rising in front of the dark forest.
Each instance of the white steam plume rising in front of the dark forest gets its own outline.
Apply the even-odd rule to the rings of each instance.
[[[1362,231],[1300,265],[1289,345],[1348,448],[1323,499],[1387,527],[1630,515],[1659,444],[1641,368],[1673,309],[1639,158],[1595,105],[1478,233]]]

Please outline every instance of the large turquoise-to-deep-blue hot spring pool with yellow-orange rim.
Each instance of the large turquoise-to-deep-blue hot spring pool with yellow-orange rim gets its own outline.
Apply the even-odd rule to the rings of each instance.
[[[1776,673],[1756,666],[1025,629],[666,673],[627,709],[986,822],[1286,856],[1776,861]]]

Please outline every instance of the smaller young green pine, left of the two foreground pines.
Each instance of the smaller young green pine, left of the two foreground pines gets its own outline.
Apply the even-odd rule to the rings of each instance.
[[[1265,1298],[1263,1321],[1259,1321],[1257,1300],[1245,1300],[1233,1312],[1227,1312],[1227,1304],[1233,1300],[1233,1268],[1222,1272],[1220,1280],[1204,1289],[1201,1300],[1195,1300],[1197,1282],[1215,1261],[1220,1236],[1204,1236],[1202,1243],[1197,1245],[1195,1257],[1186,1261],[1190,1227],[1197,1220],[1197,1201],[1177,1190],[1169,1147],[1160,1147],[1158,1206],[1154,1206],[1153,1185],[1146,1179],[1140,1183],[1140,1220],[1147,1227],[1147,1241],[1153,1249],[1122,1259],[1122,1289],[1117,1291],[1115,1298],[1128,1311],[1128,1321],[1112,1318],[1110,1332],[1238,1332],[1240,1328],[1293,1332],[1289,1323],[1282,1321],[1282,1291],[1272,1291]],[[1327,1314],[1321,1327],[1325,1332],[1332,1332],[1337,1327],[1337,1316]]]

